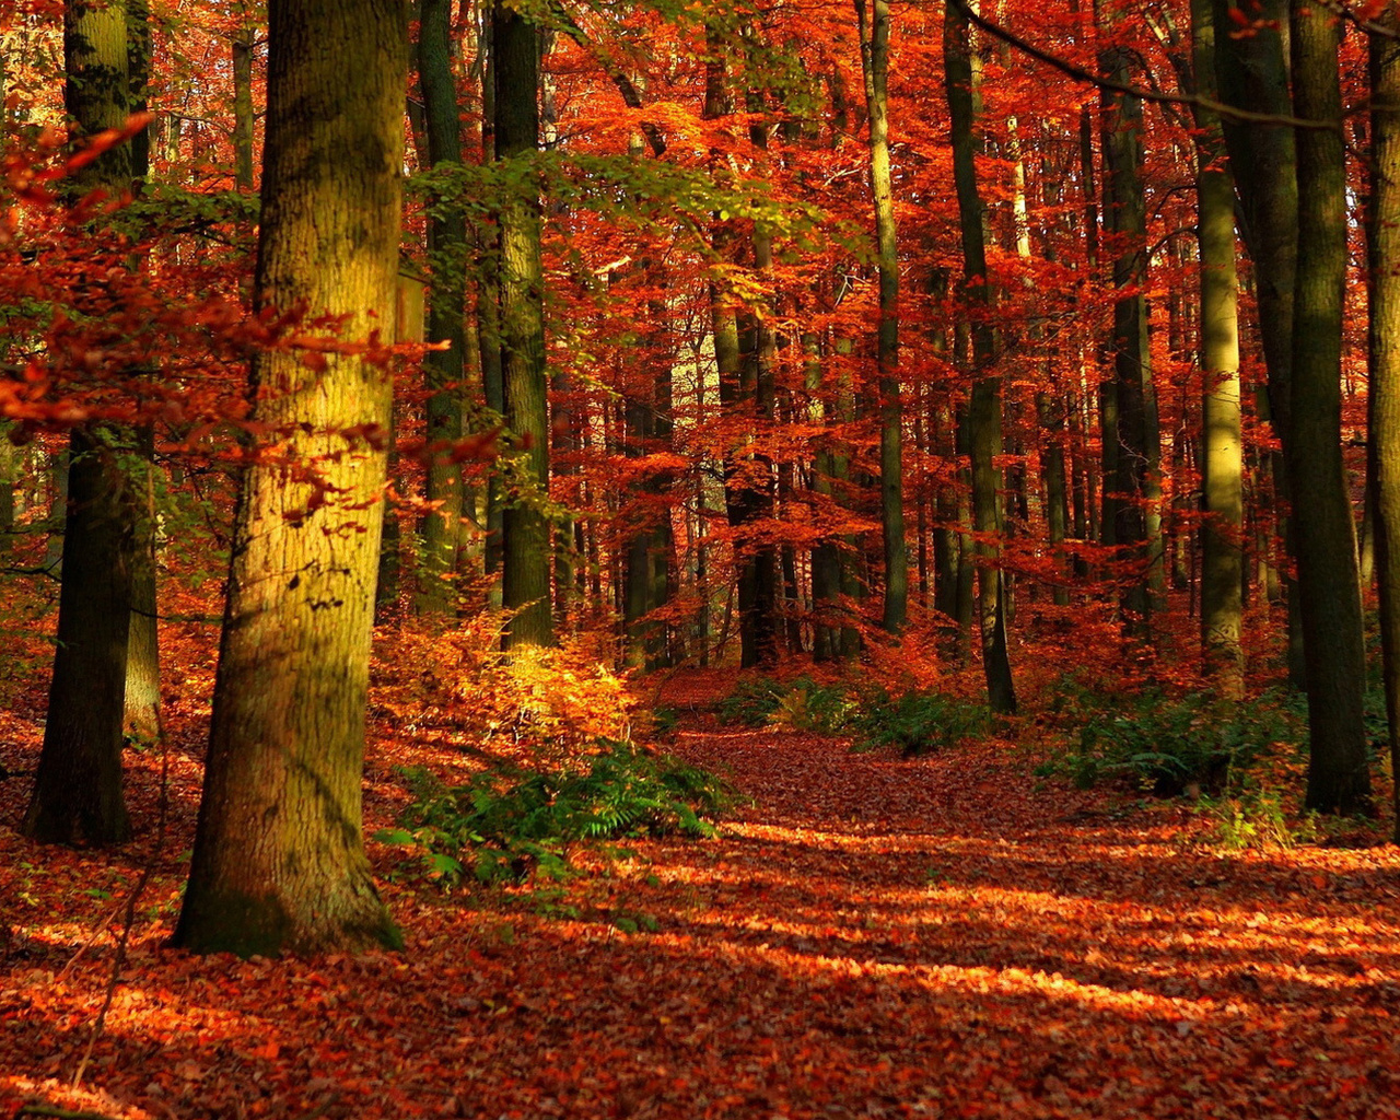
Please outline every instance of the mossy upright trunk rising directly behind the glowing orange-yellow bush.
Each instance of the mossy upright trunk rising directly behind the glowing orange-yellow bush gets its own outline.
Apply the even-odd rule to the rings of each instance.
[[[496,157],[528,161],[539,148],[539,32],[496,0],[491,48],[496,76]],[[501,521],[501,602],[511,613],[505,648],[553,645],[550,601],[549,389],[545,377],[545,273],[539,196],[521,183],[501,207],[501,384],[505,427],[524,449],[515,456]]]

